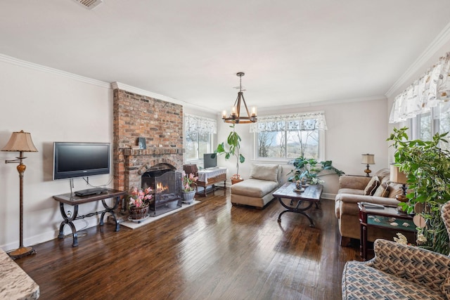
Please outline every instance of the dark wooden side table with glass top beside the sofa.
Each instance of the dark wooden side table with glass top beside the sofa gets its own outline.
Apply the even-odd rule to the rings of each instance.
[[[392,231],[392,237],[397,233],[415,233],[416,225],[413,216],[404,211],[398,211],[397,207],[371,208],[358,202],[359,226],[361,238],[359,240],[359,254],[364,261],[367,260],[367,231],[369,227],[383,228]]]

